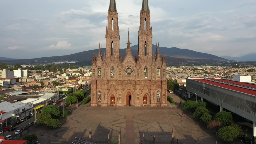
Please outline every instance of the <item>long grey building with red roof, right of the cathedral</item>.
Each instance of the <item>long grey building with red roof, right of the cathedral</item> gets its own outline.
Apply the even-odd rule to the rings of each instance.
[[[200,78],[186,79],[186,90],[200,96],[201,101],[209,101],[219,107],[244,117],[253,124],[253,136],[256,136],[256,84],[242,82],[246,76],[238,79]]]

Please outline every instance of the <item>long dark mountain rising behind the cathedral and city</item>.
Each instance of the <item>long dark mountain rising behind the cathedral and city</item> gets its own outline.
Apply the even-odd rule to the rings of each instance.
[[[153,52],[155,52],[155,45],[152,45]],[[158,49],[158,48],[157,48]],[[102,48],[102,55],[106,52],[106,48]],[[77,61],[76,65],[91,65],[92,64],[92,53],[98,53],[99,49],[88,50],[84,52],[78,52],[65,56],[52,56],[52,57],[43,57],[43,58],[32,58],[32,59],[17,59],[17,60],[1,60],[0,62],[7,62],[8,64],[20,63],[24,65],[35,65],[35,64],[48,64],[58,61]],[[227,59],[202,53],[196,52],[189,49],[179,49],[176,47],[167,48],[159,47],[159,52],[165,52],[165,59],[167,65],[186,65],[186,64],[210,64],[219,61],[228,61]],[[138,55],[138,45],[131,46],[131,53],[135,56]],[[125,58],[126,49],[120,49],[120,54],[122,58]]]

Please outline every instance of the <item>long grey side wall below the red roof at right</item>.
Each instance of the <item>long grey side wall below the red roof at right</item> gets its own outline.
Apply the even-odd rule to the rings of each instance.
[[[187,79],[186,89],[252,122],[256,122],[256,97],[227,88]]]

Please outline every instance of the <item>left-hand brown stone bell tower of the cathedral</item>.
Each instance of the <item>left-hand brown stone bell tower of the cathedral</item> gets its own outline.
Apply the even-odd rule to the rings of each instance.
[[[119,60],[119,27],[116,0],[110,0],[106,27],[106,61]]]

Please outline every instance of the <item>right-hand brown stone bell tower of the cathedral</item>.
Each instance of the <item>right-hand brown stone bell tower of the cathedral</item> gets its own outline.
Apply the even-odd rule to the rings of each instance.
[[[140,27],[139,27],[139,52],[140,61],[152,61],[152,27],[150,26],[150,10],[148,0],[142,1],[140,10]]]

